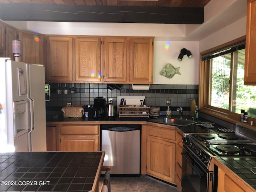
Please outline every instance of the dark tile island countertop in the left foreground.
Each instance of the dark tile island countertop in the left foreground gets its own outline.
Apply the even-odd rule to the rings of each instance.
[[[90,191],[100,168],[102,154],[0,153],[0,191]]]

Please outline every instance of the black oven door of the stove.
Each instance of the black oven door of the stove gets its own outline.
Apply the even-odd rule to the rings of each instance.
[[[183,146],[182,178],[183,192],[212,192],[213,172],[209,172],[199,160]]]

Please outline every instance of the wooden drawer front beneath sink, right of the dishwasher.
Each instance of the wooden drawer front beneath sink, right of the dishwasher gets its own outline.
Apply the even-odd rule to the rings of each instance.
[[[176,140],[176,131],[175,130],[166,130],[156,127],[147,127],[147,134],[151,136],[156,136],[160,138],[170,139],[170,140]]]

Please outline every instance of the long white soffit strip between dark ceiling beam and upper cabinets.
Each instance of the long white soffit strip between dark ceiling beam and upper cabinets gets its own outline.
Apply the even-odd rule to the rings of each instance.
[[[22,30],[41,34],[99,35],[99,36],[158,36],[185,37],[184,24],[139,23],[85,23],[85,22],[36,22],[6,21]]]

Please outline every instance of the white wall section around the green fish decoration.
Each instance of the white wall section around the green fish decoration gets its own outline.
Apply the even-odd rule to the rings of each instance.
[[[168,50],[165,50],[166,41],[154,42],[154,69],[153,84],[188,84],[199,83],[199,42],[171,41]],[[192,58],[184,55],[182,61],[178,61],[180,50],[186,48],[192,53]],[[180,67],[180,74],[173,78],[166,78],[160,73],[166,64]]]

